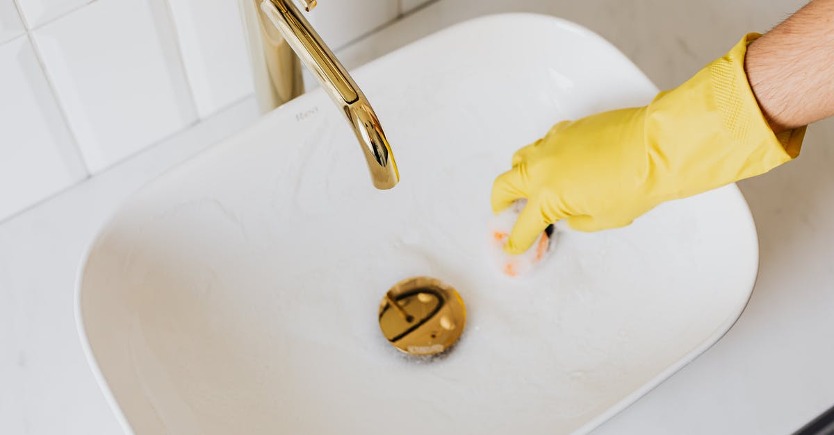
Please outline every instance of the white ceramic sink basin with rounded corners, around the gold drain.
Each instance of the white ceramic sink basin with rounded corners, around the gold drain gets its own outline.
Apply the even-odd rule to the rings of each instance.
[[[758,250],[735,185],[628,228],[565,231],[528,277],[495,270],[490,188],[515,149],[657,91],[593,32],[479,18],[354,74],[396,188],[371,186],[319,90],[143,188],[93,243],[79,328],[128,433],[586,432],[741,314]],[[460,342],[428,361],[397,353],[376,318],[417,275],[468,310]]]

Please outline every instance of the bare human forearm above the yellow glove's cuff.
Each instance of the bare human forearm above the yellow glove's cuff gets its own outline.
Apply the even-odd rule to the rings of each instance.
[[[834,0],[814,0],[752,42],[745,67],[774,132],[834,115]]]

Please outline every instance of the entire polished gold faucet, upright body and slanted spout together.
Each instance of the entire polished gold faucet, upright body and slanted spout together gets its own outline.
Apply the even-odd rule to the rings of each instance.
[[[307,11],[316,0],[298,0]],[[240,0],[261,112],[304,92],[301,66],[342,110],[368,162],[374,186],[393,188],[399,182],[394,154],[370,102],[293,0]]]

